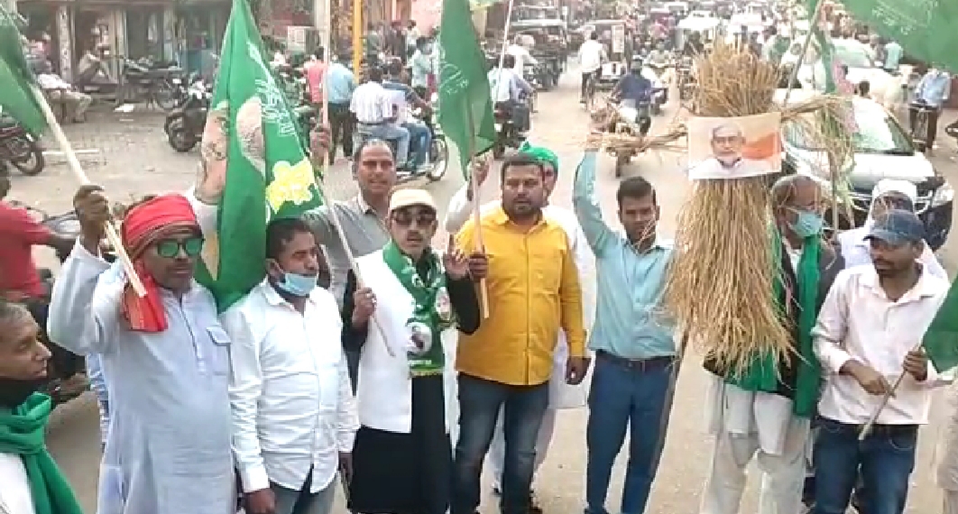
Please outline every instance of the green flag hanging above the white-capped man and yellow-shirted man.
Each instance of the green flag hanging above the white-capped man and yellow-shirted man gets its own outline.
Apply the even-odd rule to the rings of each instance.
[[[439,124],[459,148],[466,173],[469,152],[480,154],[495,143],[486,56],[479,48],[468,0],[443,1],[439,45]]]

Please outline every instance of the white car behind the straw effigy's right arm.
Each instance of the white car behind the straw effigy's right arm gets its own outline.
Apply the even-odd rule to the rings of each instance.
[[[792,91],[792,101],[804,101],[817,95],[807,90]],[[783,101],[785,90],[776,92]],[[906,180],[918,189],[915,210],[924,221],[928,244],[937,250],[951,230],[951,212],[955,191],[912,143],[895,116],[876,101],[852,98],[855,133],[854,168],[849,173],[849,197],[857,227],[865,221],[872,203],[872,190],[879,180]],[[798,123],[786,123],[782,130],[783,170],[810,175],[831,190],[828,157]]]

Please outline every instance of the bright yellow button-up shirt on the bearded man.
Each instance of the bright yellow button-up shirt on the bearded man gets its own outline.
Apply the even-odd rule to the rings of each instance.
[[[456,369],[511,386],[543,384],[552,375],[559,327],[569,355],[585,355],[582,289],[568,237],[545,218],[525,232],[501,207],[484,215],[481,226],[489,318],[474,334],[459,334]],[[456,243],[468,252],[475,248],[473,220]]]

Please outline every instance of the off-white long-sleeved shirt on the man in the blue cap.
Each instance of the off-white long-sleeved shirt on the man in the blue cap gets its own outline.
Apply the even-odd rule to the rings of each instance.
[[[850,375],[838,371],[855,359],[894,384],[906,353],[922,341],[924,331],[948,292],[948,282],[922,272],[918,283],[898,302],[885,295],[873,266],[841,271],[811,331],[825,387],[818,413],[834,421],[860,425],[878,410],[882,396],[869,394]],[[912,425],[928,421],[929,391],[943,383],[931,363],[924,382],[911,375],[878,415],[878,424]]]

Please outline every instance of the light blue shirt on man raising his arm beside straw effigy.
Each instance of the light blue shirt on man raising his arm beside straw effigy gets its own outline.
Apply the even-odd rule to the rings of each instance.
[[[586,152],[576,171],[573,205],[596,256],[596,321],[589,349],[627,359],[675,354],[673,322],[661,311],[673,256],[671,241],[656,239],[646,253],[605,224],[595,200],[596,152]]]

